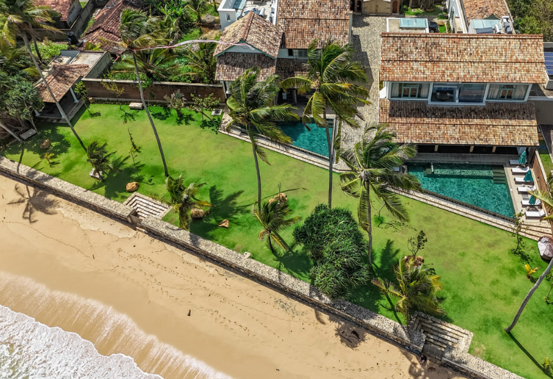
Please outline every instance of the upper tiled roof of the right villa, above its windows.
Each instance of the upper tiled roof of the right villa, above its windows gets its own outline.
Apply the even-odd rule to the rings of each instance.
[[[542,83],[541,35],[382,33],[380,80]]]

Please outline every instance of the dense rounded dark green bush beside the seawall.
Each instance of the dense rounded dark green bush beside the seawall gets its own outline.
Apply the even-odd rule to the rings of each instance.
[[[364,261],[366,243],[350,210],[317,205],[294,229],[294,239],[313,259],[313,284],[333,299],[349,297],[371,279]]]

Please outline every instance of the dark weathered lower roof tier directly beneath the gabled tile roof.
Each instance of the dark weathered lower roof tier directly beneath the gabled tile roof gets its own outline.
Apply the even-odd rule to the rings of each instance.
[[[217,58],[215,80],[234,81],[248,68],[260,68],[259,80],[265,80],[274,74],[277,59],[264,54],[225,53]]]

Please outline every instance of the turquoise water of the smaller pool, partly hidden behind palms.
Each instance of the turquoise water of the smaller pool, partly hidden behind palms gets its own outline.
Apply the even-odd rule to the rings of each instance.
[[[332,120],[329,122],[331,123]],[[278,122],[277,124],[286,136],[292,138],[292,145],[328,157],[325,128],[317,127],[316,124],[308,124],[311,129],[308,131],[301,122]],[[332,128],[328,131],[332,136]]]

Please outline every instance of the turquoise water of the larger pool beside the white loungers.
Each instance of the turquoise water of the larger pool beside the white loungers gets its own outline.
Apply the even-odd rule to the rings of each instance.
[[[514,214],[503,166],[453,163],[410,163],[409,174],[422,188],[504,216]]]

